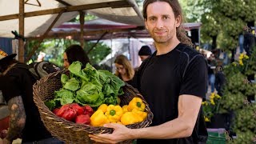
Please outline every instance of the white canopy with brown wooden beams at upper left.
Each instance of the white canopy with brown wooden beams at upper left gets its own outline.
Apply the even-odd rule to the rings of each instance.
[[[25,38],[40,36],[43,39],[53,27],[78,14],[83,31],[84,13],[114,22],[143,26],[142,14],[134,0],[1,0],[0,37],[14,38],[11,31],[17,30]],[[83,38],[83,32],[80,35]],[[19,40],[18,47],[18,59],[23,62],[22,40]],[[34,50],[36,48],[32,53]]]

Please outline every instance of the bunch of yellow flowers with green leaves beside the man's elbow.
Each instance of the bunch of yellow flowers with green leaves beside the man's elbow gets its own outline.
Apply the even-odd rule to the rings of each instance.
[[[218,114],[219,100],[222,97],[216,93],[211,93],[209,99],[205,102],[202,102],[202,110],[205,117],[205,122],[210,122],[210,118],[214,116],[214,114]]]

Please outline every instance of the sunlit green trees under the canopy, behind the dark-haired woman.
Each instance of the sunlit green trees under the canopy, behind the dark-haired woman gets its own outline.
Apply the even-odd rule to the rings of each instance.
[[[35,46],[38,41],[30,41],[26,46],[26,51],[31,51],[33,46]],[[75,41],[73,39],[45,39],[39,46],[38,50],[36,50],[35,54],[31,58],[30,62],[36,62],[37,56],[40,51],[46,53],[45,60],[49,62],[53,62],[57,66],[63,65],[63,53],[66,50],[66,47],[80,44],[80,42]],[[84,50],[87,52],[90,50],[88,57],[90,58],[90,62],[92,65],[98,64],[102,61],[102,59],[106,58],[108,54],[111,53],[111,49],[109,46],[106,46],[103,42],[98,42],[96,46],[94,46],[94,42],[85,42]],[[92,48],[92,46],[94,46]]]

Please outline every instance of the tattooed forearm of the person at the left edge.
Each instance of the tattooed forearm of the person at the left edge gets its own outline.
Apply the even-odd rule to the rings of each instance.
[[[22,134],[26,123],[26,113],[21,96],[11,98],[8,101],[8,106],[10,110],[10,124],[6,139],[12,141]]]

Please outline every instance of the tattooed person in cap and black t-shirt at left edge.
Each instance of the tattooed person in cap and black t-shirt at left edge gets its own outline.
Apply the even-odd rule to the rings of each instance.
[[[24,63],[14,60],[15,56],[0,50],[0,90],[10,111],[9,129],[6,138],[0,143],[11,143],[20,135],[22,143],[63,143],[52,138],[43,125],[33,101],[32,86],[35,79]]]

